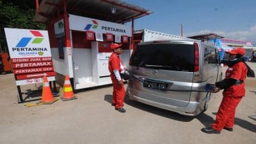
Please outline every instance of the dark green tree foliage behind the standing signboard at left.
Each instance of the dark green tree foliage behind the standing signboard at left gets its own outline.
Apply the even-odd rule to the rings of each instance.
[[[22,8],[20,8],[13,3],[3,3],[3,1],[0,1],[0,53],[1,51],[7,52],[4,28],[45,30],[44,24],[33,21],[35,9],[29,7],[31,5],[23,4]]]

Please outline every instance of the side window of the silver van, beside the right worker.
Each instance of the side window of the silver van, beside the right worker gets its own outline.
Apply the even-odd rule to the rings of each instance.
[[[205,65],[216,64],[216,48],[205,46]]]

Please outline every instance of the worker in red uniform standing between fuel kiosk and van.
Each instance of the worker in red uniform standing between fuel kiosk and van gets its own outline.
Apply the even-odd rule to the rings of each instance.
[[[123,108],[125,99],[125,86],[120,73],[125,72],[125,66],[119,57],[122,54],[122,44],[111,44],[113,53],[109,57],[109,72],[111,73],[111,80],[113,83],[113,98],[112,105],[115,105],[115,110],[125,113]]]

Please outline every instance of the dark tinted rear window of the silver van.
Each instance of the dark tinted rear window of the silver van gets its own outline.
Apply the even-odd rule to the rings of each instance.
[[[193,72],[194,57],[194,46],[191,44],[145,44],[138,45],[134,50],[130,65]]]

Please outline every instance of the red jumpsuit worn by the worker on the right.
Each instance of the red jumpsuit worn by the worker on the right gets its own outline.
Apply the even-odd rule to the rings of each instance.
[[[227,69],[225,73],[225,78],[233,78],[235,80],[245,80],[248,69],[246,64],[243,62],[238,62],[230,68]],[[246,89],[245,84],[234,84],[231,87],[224,89],[223,91],[223,100],[218,109],[216,120],[214,121],[211,127],[217,131],[221,131],[223,127],[232,128],[234,126],[234,114],[237,108],[237,105],[245,96]]]

